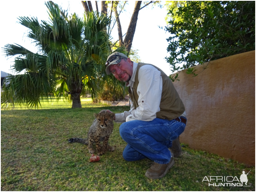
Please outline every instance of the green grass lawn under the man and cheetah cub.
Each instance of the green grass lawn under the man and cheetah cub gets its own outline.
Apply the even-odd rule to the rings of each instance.
[[[183,153],[162,179],[148,179],[151,161],[128,162],[122,158],[126,146],[115,123],[110,145],[100,161],[90,163],[87,146],[68,143],[71,137],[86,137],[93,113],[110,109],[115,113],[129,107],[109,107],[82,99],[81,109],[70,103],[44,103],[42,109],[17,107],[1,110],[1,190],[2,191],[255,191],[255,167],[238,164],[218,155],[196,151],[183,144]],[[242,171],[250,187],[213,187],[207,176],[232,176]],[[202,182],[203,181],[203,182]],[[236,182],[234,182],[236,183]]]

